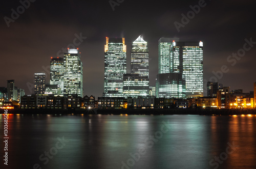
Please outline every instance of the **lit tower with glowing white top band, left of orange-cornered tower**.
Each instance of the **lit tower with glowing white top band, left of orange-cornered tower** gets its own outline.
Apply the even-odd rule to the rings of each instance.
[[[82,71],[78,48],[68,48],[68,53],[64,53],[63,93],[65,97],[72,95],[83,97]]]

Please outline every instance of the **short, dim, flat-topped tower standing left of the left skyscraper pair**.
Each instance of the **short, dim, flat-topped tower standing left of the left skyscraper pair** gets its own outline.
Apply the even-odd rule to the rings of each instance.
[[[35,73],[34,75],[35,83],[35,94],[45,94],[46,90],[46,74],[45,73]]]

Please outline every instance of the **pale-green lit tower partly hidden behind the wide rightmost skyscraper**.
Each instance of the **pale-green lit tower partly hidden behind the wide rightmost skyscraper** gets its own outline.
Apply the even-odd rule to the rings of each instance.
[[[158,73],[170,72],[170,47],[179,38],[160,38],[158,41]]]

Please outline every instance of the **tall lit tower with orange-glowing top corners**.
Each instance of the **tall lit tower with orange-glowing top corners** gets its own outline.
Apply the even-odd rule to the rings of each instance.
[[[123,97],[123,74],[126,73],[125,39],[106,37],[104,47],[103,97]]]

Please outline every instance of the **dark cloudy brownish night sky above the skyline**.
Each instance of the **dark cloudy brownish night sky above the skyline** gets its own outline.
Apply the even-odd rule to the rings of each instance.
[[[62,48],[73,44],[76,34],[84,37],[83,42],[75,46],[81,52],[84,95],[102,96],[105,37],[125,38],[127,72],[130,73],[131,46],[139,35],[148,42],[152,85],[155,85],[158,73],[158,40],[179,37],[180,41],[203,41],[204,79],[208,81],[214,76],[212,71],[220,71],[226,65],[229,71],[218,79],[223,86],[244,92],[253,90],[256,44],[252,44],[253,47],[247,45],[250,49],[244,57],[238,57],[239,60],[229,58],[228,62],[227,59],[243,49],[245,38],[252,38],[256,43],[255,1],[207,0],[205,7],[180,27],[180,32],[174,22],[182,23],[181,14],[187,15],[191,11],[189,6],[198,5],[199,1],[119,2],[113,11],[108,0],[36,0],[8,27],[4,17],[11,18],[11,9],[17,11],[21,4],[19,1],[3,1],[0,7],[0,87],[7,87],[6,80],[14,79],[15,86],[31,94],[27,84],[33,85],[34,73],[47,73],[51,57],[63,57]]]

